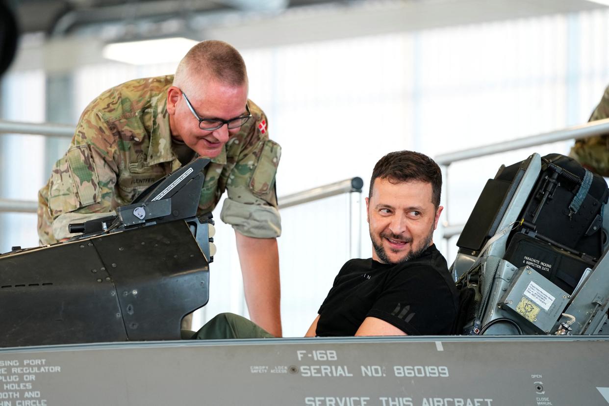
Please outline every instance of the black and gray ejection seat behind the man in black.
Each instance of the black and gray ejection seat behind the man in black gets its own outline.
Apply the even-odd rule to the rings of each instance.
[[[580,315],[574,333],[598,334],[609,307],[608,195],[602,177],[563,155],[502,165],[457,242],[450,269],[462,299],[457,334],[570,334],[568,310],[593,270],[594,281],[602,276],[598,304],[577,309],[598,315],[598,328],[583,333]]]

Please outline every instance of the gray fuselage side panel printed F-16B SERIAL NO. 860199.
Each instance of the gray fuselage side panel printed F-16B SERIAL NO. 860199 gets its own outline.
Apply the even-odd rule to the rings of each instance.
[[[4,349],[0,402],[607,406],[602,393],[609,390],[608,337],[545,338],[299,338]]]

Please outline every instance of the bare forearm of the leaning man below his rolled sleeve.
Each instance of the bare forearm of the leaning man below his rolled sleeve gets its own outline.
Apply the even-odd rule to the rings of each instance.
[[[250,318],[281,337],[279,251],[274,238],[246,237],[235,231]]]

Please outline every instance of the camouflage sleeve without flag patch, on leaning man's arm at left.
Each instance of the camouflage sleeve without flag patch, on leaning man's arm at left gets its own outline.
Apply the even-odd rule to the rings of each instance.
[[[74,234],[69,223],[114,213],[118,167],[115,144],[107,123],[88,108],[80,117],[66,154],[53,166],[51,178],[38,192],[38,236],[43,244]]]

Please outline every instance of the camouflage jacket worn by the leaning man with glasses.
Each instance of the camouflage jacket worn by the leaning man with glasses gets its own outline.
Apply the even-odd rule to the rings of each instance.
[[[167,89],[173,76],[132,80],[93,100],[80,116],[66,154],[38,192],[41,244],[71,237],[69,223],[127,205],[181,166],[172,149]],[[205,168],[199,214],[213,210],[224,193],[220,218],[239,233],[258,238],[281,234],[275,173],[281,147],[268,135],[262,110],[248,100],[250,119]]]

